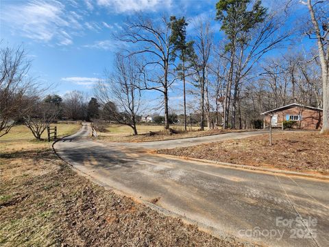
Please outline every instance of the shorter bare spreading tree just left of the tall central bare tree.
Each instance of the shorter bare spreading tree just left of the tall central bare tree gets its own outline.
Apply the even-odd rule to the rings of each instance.
[[[136,60],[117,54],[115,70],[95,86],[95,95],[107,120],[130,126],[138,134],[136,117],[141,106],[140,69]]]

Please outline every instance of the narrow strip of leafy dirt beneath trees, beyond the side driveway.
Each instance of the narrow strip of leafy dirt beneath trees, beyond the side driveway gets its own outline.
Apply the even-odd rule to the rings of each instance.
[[[144,141],[164,141],[173,139],[184,139],[191,137],[206,137],[214,134],[225,134],[230,132],[241,132],[246,130],[191,130],[191,131],[169,131],[161,130],[157,132],[149,132],[146,134],[138,134],[136,136],[132,135],[117,135],[112,134],[108,136],[100,136],[98,139],[100,141],[111,141],[111,142],[144,142]]]

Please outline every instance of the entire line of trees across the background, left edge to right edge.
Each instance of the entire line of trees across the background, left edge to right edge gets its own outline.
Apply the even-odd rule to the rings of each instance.
[[[303,4],[308,20],[291,25],[291,9]],[[164,116],[158,119],[168,129],[177,108],[170,106],[171,91],[182,92],[185,130],[191,115],[201,130],[257,128],[260,113],[297,102],[323,108],[322,132],[328,132],[328,4],[287,1],[269,11],[261,1],[220,0],[215,10],[209,18],[218,21],[219,30],[201,17],[132,16],[123,32],[114,35],[127,45],[116,54],[111,72],[95,85],[90,102],[78,91],[63,98],[40,96],[27,76],[25,51],[1,49],[0,136],[19,119],[32,132],[42,132],[55,116],[115,121],[137,134],[136,123],[147,108],[146,92],[160,95],[157,109]],[[304,36],[317,45],[296,49],[293,41]],[[45,124],[36,127],[35,121]]]

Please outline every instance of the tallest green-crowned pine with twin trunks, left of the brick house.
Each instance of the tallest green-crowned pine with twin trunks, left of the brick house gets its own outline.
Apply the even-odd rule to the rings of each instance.
[[[251,6],[250,6],[251,5]],[[263,23],[267,16],[267,8],[256,0],[220,0],[216,4],[216,19],[221,21],[221,30],[228,36],[225,51],[230,53],[230,70],[228,73],[228,84],[226,86],[226,97],[224,102],[223,127],[228,128],[228,115],[230,113],[231,91],[234,83],[232,128],[235,125],[236,99],[238,97],[239,80],[241,71],[234,71],[236,64],[241,63],[241,55],[250,39],[249,33],[258,25]],[[262,39],[260,37],[260,39]],[[239,51],[240,47],[240,51]],[[252,47],[257,49],[257,47]],[[239,61],[236,61],[239,58]],[[234,78],[235,76],[235,78]]]

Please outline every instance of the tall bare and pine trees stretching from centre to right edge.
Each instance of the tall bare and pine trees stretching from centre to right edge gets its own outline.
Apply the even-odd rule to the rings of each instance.
[[[185,129],[187,111],[197,111],[201,130],[205,125],[255,128],[262,121],[260,113],[298,102],[323,107],[327,131],[328,5],[308,0],[304,5],[309,21],[291,27],[289,13],[300,4],[287,1],[269,12],[261,1],[220,0],[216,15],[210,16],[220,23],[224,38],[219,40],[219,30],[213,30],[208,19],[188,23],[184,16],[134,16],[115,35],[129,48],[117,54],[114,71],[97,84],[95,97],[103,106],[114,102],[119,112],[125,112],[125,117],[114,118],[134,132],[144,91],[161,95],[159,108],[164,110],[164,128],[169,128],[171,90],[182,90]],[[188,25],[194,27],[188,29],[190,35]],[[315,38],[319,49],[295,51],[293,40],[303,35]],[[179,89],[175,84],[181,85]],[[189,110],[186,95],[197,102]]]

